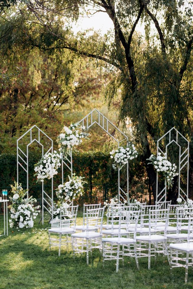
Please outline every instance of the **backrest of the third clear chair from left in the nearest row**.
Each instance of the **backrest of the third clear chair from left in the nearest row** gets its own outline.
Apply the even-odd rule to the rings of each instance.
[[[129,208],[129,207],[128,207]],[[133,239],[135,240],[136,238],[136,229],[137,229],[137,224],[139,221],[139,216],[140,216],[141,211],[140,210],[127,210],[125,208],[120,208],[119,210],[119,233],[118,233],[118,238],[121,237],[121,229],[124,228],[128,231],[130,228],[131,223],[135,223],[135,232]],[[112,212],[113,214],[113,212]]]

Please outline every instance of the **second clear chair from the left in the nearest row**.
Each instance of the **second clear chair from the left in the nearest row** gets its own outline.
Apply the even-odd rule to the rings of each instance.
[[[86,210],[86,231],[71,234],[73,257],[77,253],[86,252],[86,263],[89,265],[89,251],[92,249],[102,249],[102,221],[104,208],[94,208]],[[96,227],[99,232],[89,230],[89,226]],[[80,240],[86,240],[85,245]]]

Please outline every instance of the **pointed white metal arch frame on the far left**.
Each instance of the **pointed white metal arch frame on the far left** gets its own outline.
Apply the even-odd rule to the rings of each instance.
[[[36,138],[32,139],[32,130],[33,129],[37,129],[38,130],[38,139],[36,139]],[[49,141],[51,142],[51,145],[50,145],[49,149],[45,153],[44,153],[44,146],[40,142],[40,134],[44,135],[45,137],[47,137],[49,139]],[[30,136],[30,142],[26,145],[26,154],[25,154],[22,151],[22,149],[19,147],[19,142],[26,135]],[[29,172],[28,171],[28,150],[29,150],[29,146],[33,142],[37,142],[37,144],[39,144],[42,147],[42,157],[44,155],[46,155],[48,152],[50,152],[50,151],[53,153],[53,140],[50,137],[48,137],[47,134],[42,132],[42,130],[39,127],[37,127],[36,125],[33,125],[30,129],[28,129],[27,132],[25,132],[21,137],[19,137],[19,139],[17,139],[17,183],[19,183],[19,166],[20,166],[27,174],[27,176],[26,176],[27,190],[29,189],[29,181],[28,181],[28,172]],[[20,155],[21,153],[22,153],[22,156]],[[21,161],[23,162],[25,168],[21,164]],[[44,208],[48,211],[48,213],[52,216],[52,219],[53,219],[53,178],[51,179],[51,182],[52,182],[52,185],[51,185],[51,196],[49,196],[44,191],[44,182],[42,182],[42,224],[44,224]],[[28,198],[28,191],[27,191],[27,198]],[[48,199],[48,201],[46,200],[46,198]],[[45,206],[45,204],[48,205],[48,208],[51,209],[51,212],[48,210],[48,208]]]

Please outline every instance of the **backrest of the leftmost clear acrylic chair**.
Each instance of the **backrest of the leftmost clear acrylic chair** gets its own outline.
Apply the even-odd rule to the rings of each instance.
[[[76,216],[78,212],[78,205],[77,206],[65,206],[60,207],[60,228],[71,226],[76,226]]]

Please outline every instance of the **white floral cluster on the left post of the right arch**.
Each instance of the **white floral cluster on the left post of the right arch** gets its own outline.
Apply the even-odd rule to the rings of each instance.
[[[148,164],[152,164],[157,172],[163,173],[167,180],[168,188],[170,188],[173,184],[174,177],[178,175],[178,173],[176,173],[177,166],[167,160],[166,154],[162,157],[160,152],[158,152],[157,157],[151,155],[147,160],[150,161]]]

